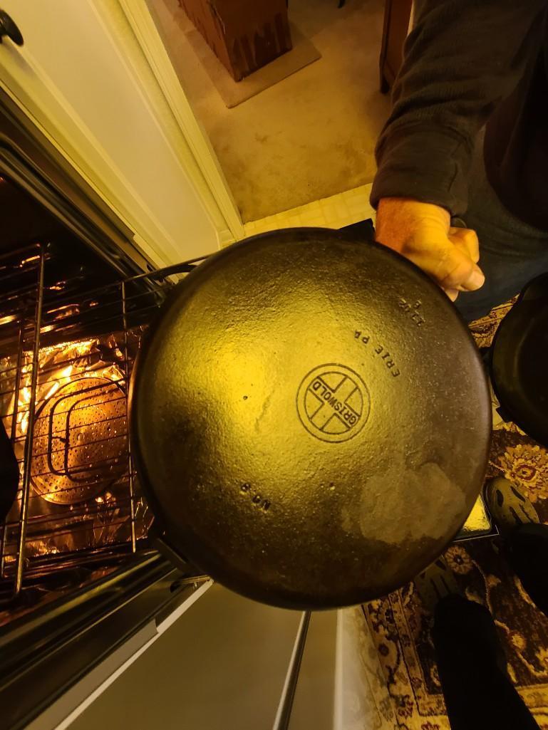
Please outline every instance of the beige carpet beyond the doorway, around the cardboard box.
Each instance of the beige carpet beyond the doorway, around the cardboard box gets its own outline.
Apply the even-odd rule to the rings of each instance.
[[[177,0],[148,0],[244,222],[370,183],[389,100],[378,92],[382,0],[291,0],[289,18],[321,53],[234,109],[184,32]],[[188,22],[187,28],[188,28]]]

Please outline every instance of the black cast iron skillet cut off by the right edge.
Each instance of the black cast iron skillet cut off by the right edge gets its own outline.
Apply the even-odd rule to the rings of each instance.
[[[504,415],[548,447],[548,274],[520,293],[498,327],[490,358]]]

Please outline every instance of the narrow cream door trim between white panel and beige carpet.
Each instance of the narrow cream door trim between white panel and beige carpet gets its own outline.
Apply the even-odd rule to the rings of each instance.
[[[205,131],[203,131],[202,126],[194,116],[189,99],[180,85],[151,11],[148,9],[148,4],[145,0],[139,0],[138,2],[135,2],[135,0],[118,0],[118,3],[134,31],[137,42],[142,48],[142,53],[151,66],[151,70],[159,83],[162,93],[164,93],[180,131],[194,155],[197,163],[194,183],[199,189],[205,182],[209,188],[213,204],[218,207],[224,220],[226,220],[227,232],[224,234],[225,240],[222,240],[223,236],[221,235],[221,245],[229,243],[230,238],[232,240],[243,238],[245,234],[240,212],[237,210],[227,180],[221,171],[216,153],[211,147]],[[192,172],[189,172],[192,177]],[[207,199],[205,199],[205,205],[208,206]]]

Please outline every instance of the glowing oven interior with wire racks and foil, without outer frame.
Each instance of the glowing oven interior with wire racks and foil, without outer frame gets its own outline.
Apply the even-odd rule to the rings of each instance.
[[[121,277],[7,176],[0,210],[0,418],[20,472],[0,526],[5,626],[152,553],[128,384],[156,310],[198,262]]]

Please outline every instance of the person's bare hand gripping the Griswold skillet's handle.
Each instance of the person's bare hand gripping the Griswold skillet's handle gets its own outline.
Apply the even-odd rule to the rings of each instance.
[[[376,240],[413,261],[457,299],[460,291],[479,289],[485,280],[475,231],[453,228],[449,212],[411,198],[381,198]]]

